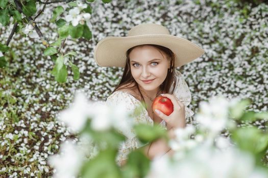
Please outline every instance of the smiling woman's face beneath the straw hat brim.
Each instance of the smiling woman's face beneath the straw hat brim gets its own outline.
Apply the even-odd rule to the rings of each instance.
[[[141,46],[134,48],[130,54],[131,74],[136,82],[146,91],[155,92],[165,80],[170,62],[167,61],[165,53],[154,46]],[[145,83],[142,80],[151,80]]]

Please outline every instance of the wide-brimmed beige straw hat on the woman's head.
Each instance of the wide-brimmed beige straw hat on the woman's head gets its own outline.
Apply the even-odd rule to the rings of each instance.
[[[128,49],[142,44],[155,44],[175,53],[175,67],[183,66],[204,54],[198,45],[170,35],[162,25],[145,23],[134,26],[127,37],[106,37],[94,49],[94,59],[102,67],[125,67]]]

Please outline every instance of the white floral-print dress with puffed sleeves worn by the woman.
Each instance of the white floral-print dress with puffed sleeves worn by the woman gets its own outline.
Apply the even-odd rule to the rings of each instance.
[[[191,116],[194,114],[194,112],[187,107],[191,102],[191,93],[189,91],[189,87],[185,82],[185,80],[183,79],[182,74],[178,70],[175,70],[175,76],[176,76],[176,86],[174,90],[174,95],[185,105],[185,113],[186,113],[185,115],[186,117],[190,117],[191,120]],[[124,104],[126,106],[127,111],[133,111],[141,104],[141,102],[137,100],[134,96],[124,91],[116,91],[112,95],[110,95],[106,100],[106,104],[108,106],[115,106],[118,103]],[[152,126],[154,125],[154,121],[149,116],[148,111],[144,107],[142,109],[142,112],[134,118],[134,121],[131,122],[135,124],[145,123]],[[160,126],[166,129],[165,121],[162,121],[160,123]],[[121,161],[127,159],[127,156],[131,150],[146,145],[139,142],[133,129],[128,131],[122,130],[119,132],[126,135],[127,140],[125,142],[122,142],[119,146],[119,152],[116,157],[116,162],[118,165],[120,165]]]

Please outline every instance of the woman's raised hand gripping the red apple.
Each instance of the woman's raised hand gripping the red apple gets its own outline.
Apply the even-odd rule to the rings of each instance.
[[[167,128],[185,127],[185,106],[182,102],[177,100],[175,95],[162,94],[161,96],[170,99],[173,103],[173,112],[170,115],[165,115],[159,110],[155,110],[156,114],[162,118],[167,124]],[[159,113],[158,113],[159,111]]]

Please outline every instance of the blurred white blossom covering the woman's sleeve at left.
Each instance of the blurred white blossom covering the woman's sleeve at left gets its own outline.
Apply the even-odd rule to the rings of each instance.
[[[74,103],[59,113],[58,119],[70,127],[72,133],[83,130],[86,121],[91,120],[91,128],[96,131],[117,129],[130,129],[132,122],[126,118],[130,117],[125,106],[118,104],[109,107],[104,102],[87,101],[86,96],[77,92]]]

